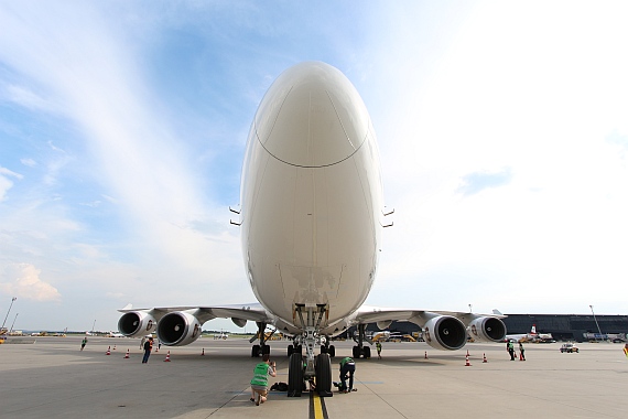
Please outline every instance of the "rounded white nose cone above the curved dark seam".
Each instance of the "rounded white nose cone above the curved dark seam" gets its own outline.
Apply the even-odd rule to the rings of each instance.
[[[335,67],[297,64],[283,72],[255,119],[258,141],[277,159],[321,168],[355,153],[366,139],[369,116],[354,85]]]

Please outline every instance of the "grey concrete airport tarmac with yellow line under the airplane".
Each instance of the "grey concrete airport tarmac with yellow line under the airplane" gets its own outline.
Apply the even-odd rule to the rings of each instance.
[[[527,344],[527,361],[510,361],[505,344],[442,352],[425,343],[387,342],[382,359],[375,350],[371,359],[356,359],[357,391],[326,398],[271,391],[266,404],[255,406],[249,380],[258,361],[250,357],[248,340],[203,337],[188,346],[162,346],[142,364],[139,340],[88,337],[82,352],[82,339],[0,345],[0,418],[628,417],[622,344],[578,344],[577,354],[560,353],[561,343]],[[278,365],[270,383],[288,382],[289,343],[270,343]],[[334,380],[353,342],[335,345]],[[169,350],[171,362],[164,362]]]

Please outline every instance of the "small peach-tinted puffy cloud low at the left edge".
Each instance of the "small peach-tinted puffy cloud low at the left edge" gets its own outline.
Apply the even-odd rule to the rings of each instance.
[[[56,288],[40,278],[41,270],[30,264],[13,264],[2,272],[0,282],[2,292],[34,301],[58,301],[61,293]]]

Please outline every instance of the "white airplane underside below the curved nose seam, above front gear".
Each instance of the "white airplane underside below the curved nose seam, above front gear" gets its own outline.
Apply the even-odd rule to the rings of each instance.
[[[326,303],[332,322],[370,290],[378,218],[356,160],[360,153],[327,168],[264,164],[246,250],[256,296],[280,318],[291,319],[294,303]]]

